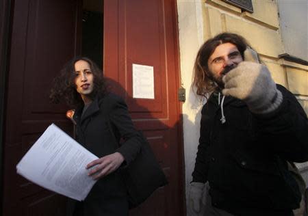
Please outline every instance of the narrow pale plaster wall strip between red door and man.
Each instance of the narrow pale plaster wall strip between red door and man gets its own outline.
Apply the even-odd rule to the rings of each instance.
[[[201,101],[191,89],[194,58],[204,41],[203,36],[203,1],[177,1],[179,14],[179,44],[181,59],[181,84],[186,90],[186,101],[183,103],[183,140],[185,157],[185,185],[188,195],[189,183],[198,146],[200,129]],[[188,215],[191,215],[187,208]]]

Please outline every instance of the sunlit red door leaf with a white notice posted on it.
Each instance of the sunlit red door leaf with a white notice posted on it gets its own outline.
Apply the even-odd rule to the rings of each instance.
[[[184,166],[175,0],[105,0],[104,73],[124,96],[169,184],[131,215],[184,215]],[[154,99],[133,98],[132,64],[153,66]]]

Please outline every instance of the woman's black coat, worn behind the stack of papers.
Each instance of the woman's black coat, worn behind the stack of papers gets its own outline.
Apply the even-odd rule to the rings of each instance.
[[[141,138],[122,98],[108,93],[95,98],[82,117],[81,113],[82,109],[77,110],[73,117],[79,144],[99,158],[120,152],[125,158],[123,165],[133,161],[140,151]],[[115,139],[123,140],[120,148]],[[127,191],[118,170],[98,180],[84,202],[73,202],[69,206],[70,213],[75,206],[74,215],[128,215]]]

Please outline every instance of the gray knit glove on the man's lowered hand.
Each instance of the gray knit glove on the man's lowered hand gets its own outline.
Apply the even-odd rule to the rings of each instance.
[[[190,183],[190,193],[188,197],[188,204],[194,213],[200,213],[203,199],[204,183]]]

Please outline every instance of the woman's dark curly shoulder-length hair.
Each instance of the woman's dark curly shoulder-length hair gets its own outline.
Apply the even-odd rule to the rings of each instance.
[[[51,89],[51,93],[49,95],[52,103],[60,103],[65,101],[68,106],[75,109],[78,109],[84,105],[84,101],[77,92],[75,85],[75,63],[79,60],[88,62],[94,77],[94,87],[89,97],[94,99],[96,96],[103,96],[103,94],[106,93],[103,72],[97,64],[95,64],[88,57],[74,57],[64,65],[64,68],[60,71],[60,75],[55,77],[53,80],[53,88]]]

